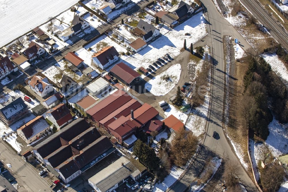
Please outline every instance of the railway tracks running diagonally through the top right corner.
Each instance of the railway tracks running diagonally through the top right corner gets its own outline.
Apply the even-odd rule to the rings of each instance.
[[[261,5],[255,0],[241,0],[248,5],[247,8],[255,15],[259,16],[260,20],[263,20],[262,24],[268,29],[268,31],[276,36],[276,40],[288,50],[288,35],[275,20],[263,9]]]

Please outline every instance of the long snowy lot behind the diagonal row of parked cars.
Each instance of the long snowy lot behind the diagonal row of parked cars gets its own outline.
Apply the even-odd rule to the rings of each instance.
[[[202,13],[194,15],[154,42],[151,42],[151,44],[138,53],[127,57],[123,62],[132,69],[141,66],[147,68],[148,65],[151,65],[151,63],[166,53],[169,53],[171,57],[176,57],[180,53],[181,48],[183,48],[184,39],[186,39],[187,45],[190,45],[207,34],[206,26],[203,27],[200,24],[201,16]],[[190,36],[185,36],[185,33],[190,33]]]

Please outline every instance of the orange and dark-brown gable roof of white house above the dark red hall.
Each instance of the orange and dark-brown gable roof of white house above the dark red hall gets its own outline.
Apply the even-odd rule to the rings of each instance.
[[[113,47],[103,47],[100,51],[94,53],[92,57],[96,57],[102,65],[108,63],[109,59],[113,60],[114,56],[119,56],[118,51]]]

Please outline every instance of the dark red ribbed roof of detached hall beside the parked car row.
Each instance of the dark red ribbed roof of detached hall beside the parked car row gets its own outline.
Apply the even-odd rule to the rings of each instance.
[[[112,67],[110,72],[114,73],[128,84],[130,84],[135,78],[140,77],[139,73],[128,67],[128,65],[123,62]]]

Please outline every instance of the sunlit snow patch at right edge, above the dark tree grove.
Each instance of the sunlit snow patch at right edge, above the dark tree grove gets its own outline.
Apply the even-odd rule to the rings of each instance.
[[[288,87],[288,70],[284,63],[278,58],[278,55],[274,54],[263,54],[263,58],[267,63],[271,65],[271,68],[275,73],[282,79],[284,84]]]

